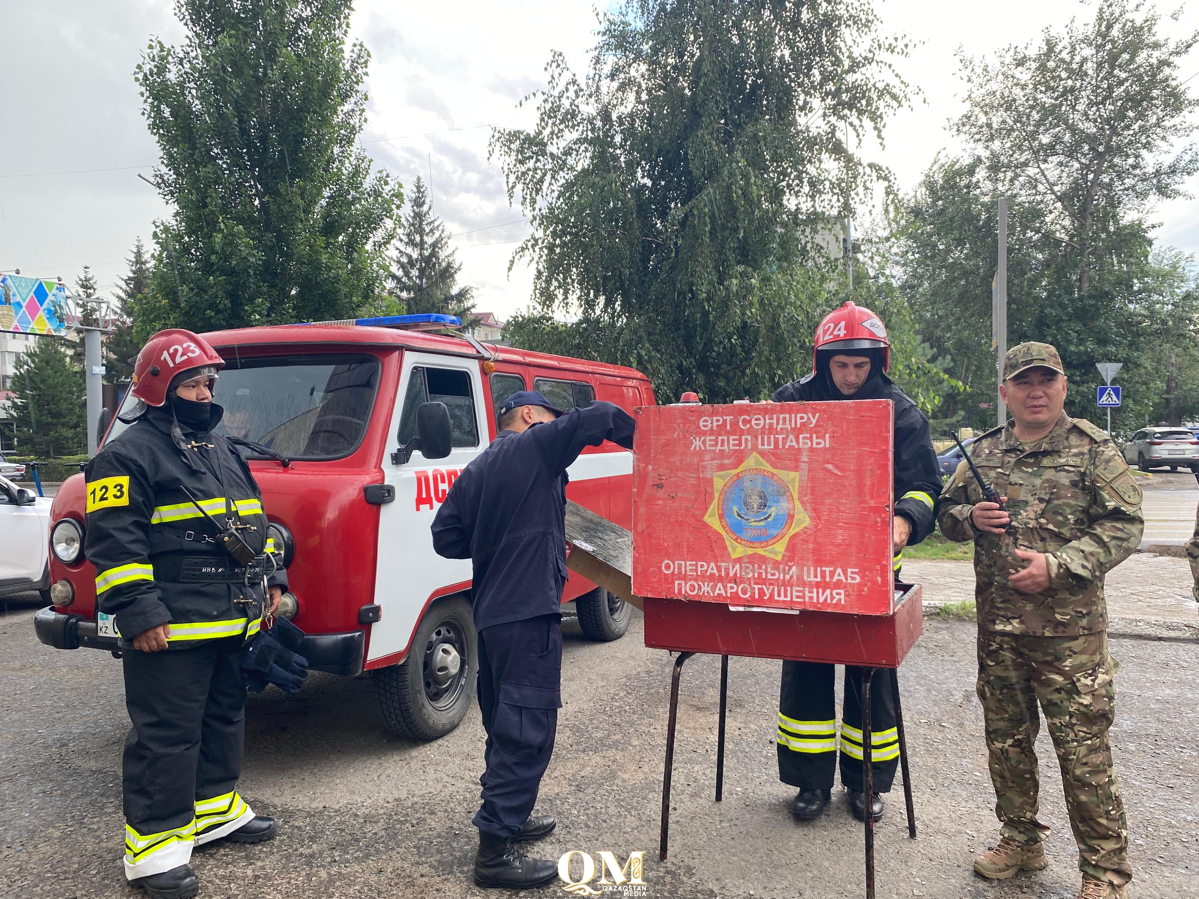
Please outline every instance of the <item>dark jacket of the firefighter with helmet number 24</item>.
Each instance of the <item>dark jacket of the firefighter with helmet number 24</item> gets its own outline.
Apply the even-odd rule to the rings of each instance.
[[[776,403],[801,403],[836,399],[890,399],[894,403],[894,514],[908,519],[911,536],[908,545],[920,543],[936,526],[936,497],[941,494],[941,472],[933,452],[928,418],[902,390],[881,372],[874,372],[851,397],[837,390],[826,373],[809,374],[775,391]],[[899,568],[900,551],[893,560]]]

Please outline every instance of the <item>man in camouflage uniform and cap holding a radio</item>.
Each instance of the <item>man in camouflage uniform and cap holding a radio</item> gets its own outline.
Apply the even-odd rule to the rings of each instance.
[[[1002,822],[975,870],[1004,879],[1048,864],[1032,748],[1040,702],[1078,841],[1079,899],[1126,899],[1128,832],[1108,744],[1119,665],[1103,575],[1140,542],[1140,488],[1103,430],[1062,411],[1066,375],[1053,346],[1010,350],[1000,391],[1012,421],[970,454],[1006,511],[982,501],[965,461],[938,511],[946,537],[975,541],[978,699]]]

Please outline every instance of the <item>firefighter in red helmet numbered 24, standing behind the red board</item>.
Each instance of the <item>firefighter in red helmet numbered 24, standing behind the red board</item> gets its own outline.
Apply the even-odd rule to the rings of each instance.
[[[890,399],[894,403],[893,568],[898,579],[903,548],[920,543],[935,525],[941,476],[928,420],[887,378],[891,345],[882,321],[869,309],[845,303],[817,328],[812,374],[775,392],[776,403]],[[850,809],[866,820],[882,816],[880,792],[888,792],[899,759],[894,700],[890,684],[870,692],[873,796],[862,784],[862,669],[845,669],[842,724],[836,722],[836,669],[815,662],[784,662],[778,708],[778,777],[800,788],[791,813],[801,821],[824,814],[832,798],[837,758]],[[893,672],[876,677],[892,677]]]

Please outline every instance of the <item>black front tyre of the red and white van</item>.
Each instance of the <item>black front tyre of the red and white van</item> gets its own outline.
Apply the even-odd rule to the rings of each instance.
[[[438,706],[426,689],[426,656],[440,639],[451,641],[459,653],[458,689],[448,705]],[[398,665],[374,671],[375,690],[387,730],[403,740],[436,740],[457,728],[475,698],[478,675],[478,639],[470,601],[448,596],[438,599],[416,626],[408,658]],[[460,681],[459,681],[460,678]],[[448,698],[447,698],[448,699]]]

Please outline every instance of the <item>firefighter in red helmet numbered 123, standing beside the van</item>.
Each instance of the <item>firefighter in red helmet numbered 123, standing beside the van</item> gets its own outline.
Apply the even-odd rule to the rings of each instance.
[[[120,633],[133,724],[122,759],[125,874],[155,899],[199,892],[193,846],[259,843],[278,829],[236,786],[242,650],[287,575],[267,555],[249,467],[215,433],[223,367],[191,331],[150,338],[133,373],[138,402],[121,417],[131,427],[85,472],[84,551],[96,567],[97,609]],[[227,543],[229,535],[245,545]]]

